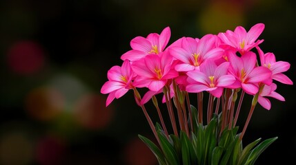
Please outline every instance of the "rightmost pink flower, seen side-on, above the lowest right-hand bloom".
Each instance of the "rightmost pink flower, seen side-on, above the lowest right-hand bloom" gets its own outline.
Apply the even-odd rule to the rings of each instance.
[[[256,48],[259,53],[261,65],[267,67],[272,72],[271,78],[279,81],[280,83],[293,85],[292,80],[290,80],[290,78],[288,78],[286,75],[282,74],[282,72],[286,72],[288,69],[290,69],[290,63],[285,61],[275,61],[275,54],[264,54],[260,47]]]

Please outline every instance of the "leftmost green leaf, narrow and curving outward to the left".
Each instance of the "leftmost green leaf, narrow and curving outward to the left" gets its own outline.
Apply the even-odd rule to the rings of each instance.
[[[160,165],[166,165],[166,159],[164,158],[164,155],[161,153],[159,148],[153,142],[151,142],[151,140],[149,140],[148,138],[146,138],[146,137],[144,137],[142,135],[138,135],[138,136],[150,148],[152,153],[154,153],[154,155],[157,158],[159,164]]]

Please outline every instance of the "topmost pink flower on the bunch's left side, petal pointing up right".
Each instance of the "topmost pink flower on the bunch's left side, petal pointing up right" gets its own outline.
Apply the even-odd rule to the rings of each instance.
[[[128,59],[129,61],[137,61],[148,54],[160,54],[170,40],[170,28],[165,28],[161,34],[151,33],[144,38],[137,36],[130,41],[132,50],[126,52],[121,56],[121,60]]]

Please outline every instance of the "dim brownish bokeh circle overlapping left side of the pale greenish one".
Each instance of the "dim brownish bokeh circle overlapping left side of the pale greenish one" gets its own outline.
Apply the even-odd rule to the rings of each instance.
[[[26,110],[32,118],[48,121],[55,118],[64,108],[63,95],[52,87],[39,87],[26,96]]]

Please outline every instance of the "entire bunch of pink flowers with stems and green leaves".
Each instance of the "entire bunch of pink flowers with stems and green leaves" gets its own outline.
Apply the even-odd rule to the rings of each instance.
[[[268,97],[284,101],[275,91],[275,81],[293,85],[282,74],[290,64],[276,61],[273,53],[264,54],[260,49],[264,40],[257,39],[263,30],[263,23],[248,32],[238,26],[234,31],[206,34],[201,39],[182,37],[168,47],[170,28],[146,38],[137,36],[130,41],[132,50],[121,56],[121,67],[108,71],[108,81],[101,88],[102,94],[109,94],[106,106],[133,91],[157,141],[153,143],[142,135],[139,138],[159,164],[254,164],[277,137],[261,143],[259,138],[243,146],[253,111],[258,103],[269,110]],[[144,87],[147,90],[142,97],[138,89]],[[159,94],[163,94],[162,99]],[[253,100],[239,132],[237,120],[245,95]],[[208,104],[204,105],[206,97]],[[159,122],[152,122],[146,111],[149,100]],[[160,100],[166,110],[160,109]],[[170,123],[164,122],[164,113]]]

